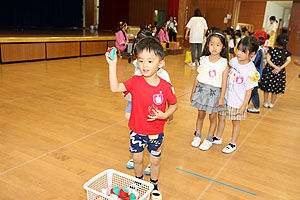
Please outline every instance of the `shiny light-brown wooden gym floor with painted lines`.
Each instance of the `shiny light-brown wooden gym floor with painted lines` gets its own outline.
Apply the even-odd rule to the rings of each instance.
[[[222,145],[207,152],[190,145],[197,111],[189,97],[196,70],[183,61],[184,55],[166,57],[179,108],[174,123],[165,126],[159,178],[164,199],[300,199],[300,67],[287,67],[286,94],[274,108],[248,114],[237,151],[225,155],[221,149],[231,138],[230,121]],[[134,175],[125,167],[131,158],[127,102],[110,92],[104,56],[0,69],[1,200],[82,200],[83,184],[106,169]],[[132,64],[119,60],[120,81],[133,71]]]

